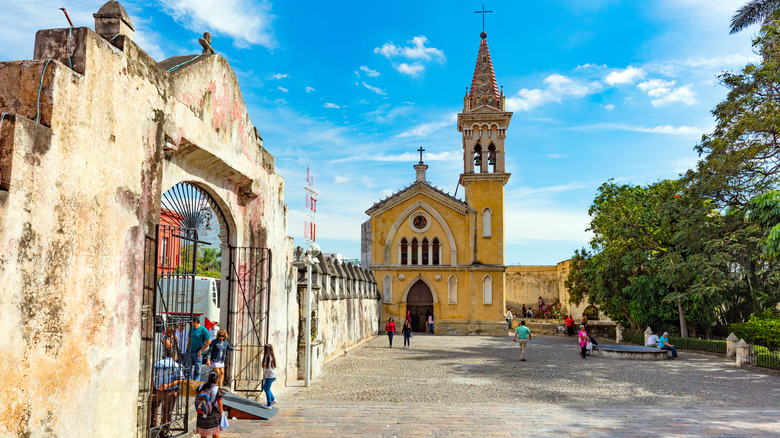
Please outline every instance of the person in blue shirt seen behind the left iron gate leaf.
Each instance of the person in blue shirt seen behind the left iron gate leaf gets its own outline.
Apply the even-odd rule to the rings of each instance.
[[[171,422],[171,413],[176,406],[176,398],[179,396],[179,385],[185,382],[184,369],[176,362],[176,349],[171,348],[166,352],[166,356],[154,363],[154,389],[152,392],[151,403],[151,427],[157,430],[159,436],[168,436],[170,431],[168,427]],[[158,415],[157,410],[162,405],[162,412]]]

